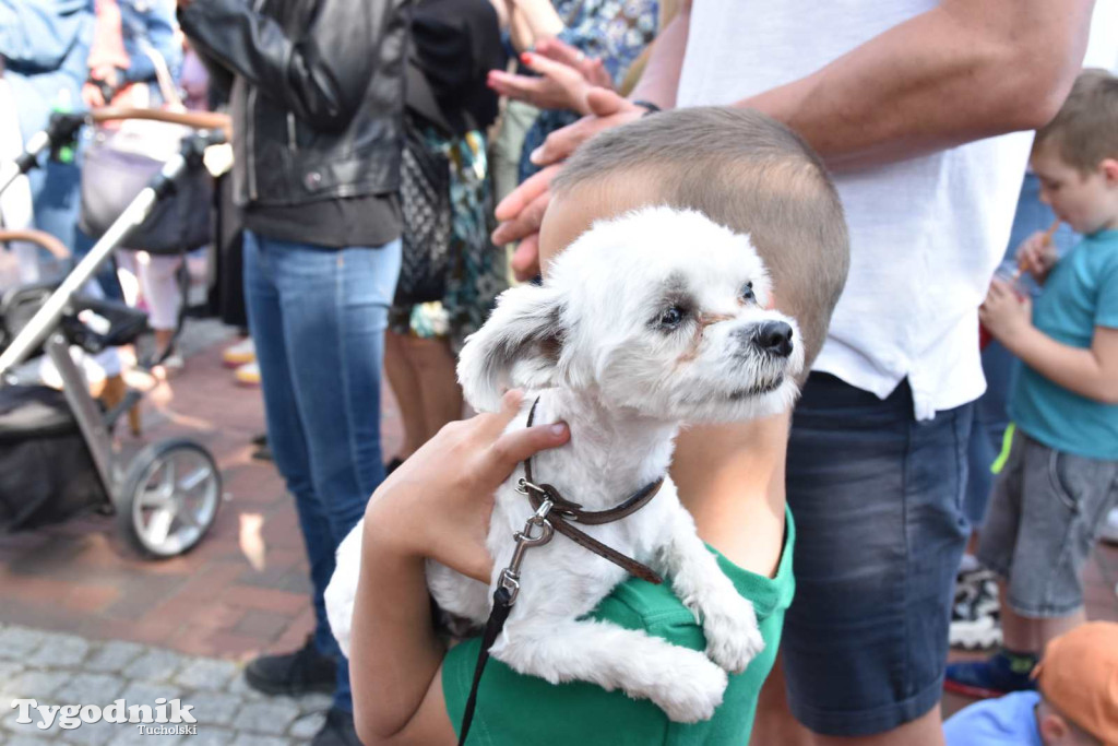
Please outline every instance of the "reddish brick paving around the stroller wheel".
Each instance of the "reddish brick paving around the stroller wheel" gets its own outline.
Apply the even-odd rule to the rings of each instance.
[[[237,661],[302,644],[313,614],[294,506],[273,465],[250,457],[250,440],[264,428],[260,396],[233,384],[220,362],[226,343],[188,357],[187,368],[143,404],[142,443],[188,435],[222,470],[225,501],[209,536],[163,561],[136,557],[102,516],[4,537],[0,622]],[[383,419],[395,448],[399,421],[390,397]],[[124,443],[140,445],[130,436]],[[241,546],[252,544],[256,523],[264,554],[254,567]]]

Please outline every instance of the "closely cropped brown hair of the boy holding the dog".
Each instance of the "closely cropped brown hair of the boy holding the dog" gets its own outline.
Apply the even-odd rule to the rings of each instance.
[[[749,234],[780,310],[799,324],[806,370],[826,338],[850,265],[842,204],[807,143],[756,111],[673,110],[594,138],[551,189],[561,196],[576,187],[624,187],[620,179],[648,180],[662,204]]]

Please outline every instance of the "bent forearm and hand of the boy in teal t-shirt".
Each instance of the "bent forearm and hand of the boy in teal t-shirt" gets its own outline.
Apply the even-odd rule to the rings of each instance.
[[[994,338],[1053,384],[1102,404],[1118,404],[1118,328],[1096,327],[1091,347],[1058,342],[1032,324],[1032,303],[995,280],[978,311]]]

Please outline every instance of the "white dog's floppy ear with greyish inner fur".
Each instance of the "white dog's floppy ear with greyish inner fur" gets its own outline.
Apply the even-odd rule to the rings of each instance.
[[[510,388],[553,386],[563,336],[558,291],[539,285],[504,291],[458,356],[466,400],[479,412],[496,412]]]

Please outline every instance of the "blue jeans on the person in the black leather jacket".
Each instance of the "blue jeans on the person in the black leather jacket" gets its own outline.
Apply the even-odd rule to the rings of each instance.
[[[385,478],[380,370],[400,242],[326,249],[245,232],[245,298],[276,468],[295,498],[314,586],[314,643],[338,659],[334,706],[352,711],[349,664],[322,594],[334,551]]]

